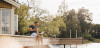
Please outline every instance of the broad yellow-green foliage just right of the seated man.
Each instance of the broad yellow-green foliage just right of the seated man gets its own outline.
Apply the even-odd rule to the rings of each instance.
[[[44,17],[44,19],[49,19],[51,16]],[[57,16],[56,18],[50,18],[49,20],[41,21],[41,25],[39,26],[39,31],[44,31],[44,36],[53,37],[54,35],[58,36],[60,34],[59,27],[66,27],[61,16]]]

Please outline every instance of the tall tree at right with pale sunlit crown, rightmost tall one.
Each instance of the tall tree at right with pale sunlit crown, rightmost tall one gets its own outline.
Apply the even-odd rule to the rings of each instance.
[[[90,13],[88,9],[82,7],[78,10],[77,16],[80,22],[82,34],[84,34],[91,29],[92,13]]]

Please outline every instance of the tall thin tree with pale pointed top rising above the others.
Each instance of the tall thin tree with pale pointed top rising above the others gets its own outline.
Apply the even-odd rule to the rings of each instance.
[[[68,13],[68,10],[67,10],[68,6],[66,4],[66,0],[63,0],[61,5],[59,5],[59,9],[57,11],[57,16],[62,18],[63,20],[63,24],[65,24],[65,20],[66,20],[66,15]],[[65,15],[66,14],[66,15]],[[67,35],[66,35],[66,24],[64,26],[59,26],[59,31],[60,31],[60,34],[59,34],[59,38],[65,38]]]

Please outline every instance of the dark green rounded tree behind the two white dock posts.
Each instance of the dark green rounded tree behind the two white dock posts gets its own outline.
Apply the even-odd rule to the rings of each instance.
[[[66,13],[65,13],[66,14]],[[60,27],[63,30],[61,30],[61,35],[59,37],[64,38],[70,37],[70,30],[71,30],[71,34],[72,34],[72,38],[76,37],[76,30],[78,31],[78,37],[81,36],[81,29],[80,29],[80,22],[77,18],[76,12],[74,9],[70,10],[68,12],[68,15],[64,15],[63,16],[63,20],[66,24],[66,28]]]

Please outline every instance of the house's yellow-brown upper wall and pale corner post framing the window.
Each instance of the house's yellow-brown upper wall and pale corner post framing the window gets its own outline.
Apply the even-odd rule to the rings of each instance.
[[[11,5],[11,4],[8,4],[7,2],[4,2],[4,1],[0,1],[0,10],[7,10],[9,9],[11,12],[11,15],[10,15],[10,35],[14,35],[15,32],[14,32],[14,10],[15,10],[15,6]],[[0,34],[2,34],[2,16],[1,16],[1,13],[0,13]]]

